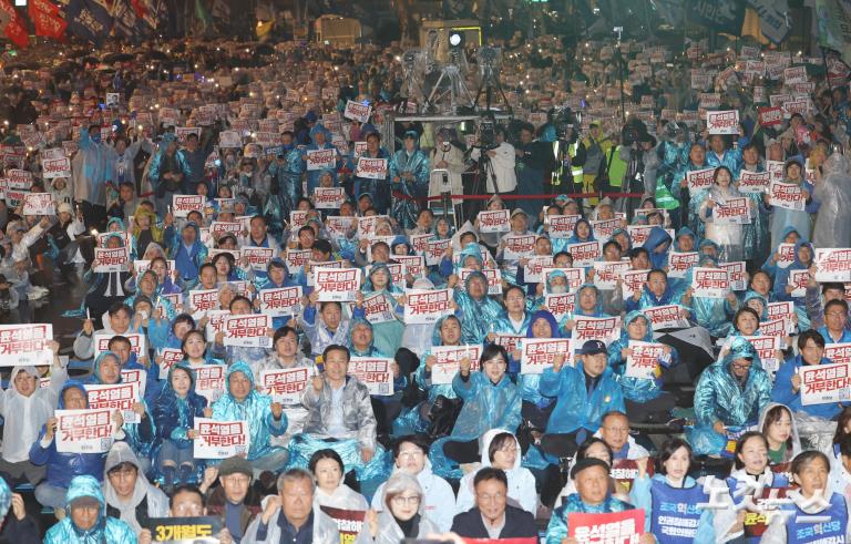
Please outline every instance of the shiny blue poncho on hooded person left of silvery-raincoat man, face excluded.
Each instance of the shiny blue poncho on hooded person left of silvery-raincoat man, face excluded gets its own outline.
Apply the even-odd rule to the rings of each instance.
[[[230,394],[230,376],[242,372],[252,382],[252,391],[242,401]],[[248,421],[250,430],[248,440],[248,461],[277,453],[280,449],[271,445],[271,437],[279,437],[287,431],[287,414],[281,413],[280,420],[271,415],[271,397],[255,389],[254,373],[244,361],[236,361],[225,373],[227,392],[213,403],[213,419],[217,421]]]

